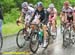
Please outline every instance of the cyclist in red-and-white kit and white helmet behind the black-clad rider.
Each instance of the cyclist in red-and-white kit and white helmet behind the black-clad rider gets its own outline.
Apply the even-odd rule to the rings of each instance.
[[[47,9],[49,12],[49,23],[52,24],[52,35],[55,35],[55,29],[56,29],[56,18],[57,18],[57,10],[53,3],[49,5],[49,8]]]

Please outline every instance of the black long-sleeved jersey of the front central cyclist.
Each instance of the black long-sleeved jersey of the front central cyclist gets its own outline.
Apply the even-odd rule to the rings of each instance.
[[[44,10],[44,9],[42,11],[35,10],[32,20],[35,19],[35,16],[37,14],[40,15],[40,18],[39,18],[40,22],[43,22],[44,24],[46,24],[48,22],[48,12],[46,10]],[[31,20],[31,22],[32,22],[32,20]]]

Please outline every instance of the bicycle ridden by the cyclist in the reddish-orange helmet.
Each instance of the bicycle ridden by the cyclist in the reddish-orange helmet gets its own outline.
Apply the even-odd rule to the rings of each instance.
[[[63,30],[63,46],[67,47],[68,45],[74,44],[75,38],[72,39],[72,31],[73,30],[73,23],[69,23],[69,27],[66,28],[66,23],[64,23],[64,30]]]

